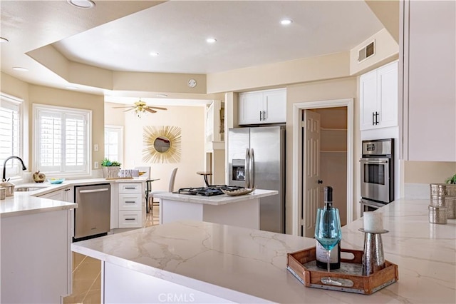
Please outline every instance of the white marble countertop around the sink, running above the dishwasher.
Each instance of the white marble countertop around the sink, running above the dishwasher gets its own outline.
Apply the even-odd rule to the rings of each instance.
[[[144,182],[146,178],[106,180],[105,178],[85,178],[76,180],[66,180],[63,183],[51,184],[48,181],[43,183],[22,183],[15,187],[39,187],[36,191],[17,191],[14,196],[6,196],[0,201],[0,217],[23,216],[33,213],[47,211],[65,210],[77,208],[78,204],[64,201],[55,201],[49,198],[39,198],[46,193],[58,191],[68,186],[93,185],[97,183],[135,183]]]

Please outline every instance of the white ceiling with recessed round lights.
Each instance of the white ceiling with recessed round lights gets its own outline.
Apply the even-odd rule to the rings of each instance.
[[[349,51],[383,28],[361,0],[160,2],[95,0],[94,9],[77,9],[65,0],[0,1],[1,36],[9,39],[0,44],[1,71],[66,88],[26,55],[52,44],[71,61],[104,69],[210,74]],[[282,26],[283,18],[293,23]]]

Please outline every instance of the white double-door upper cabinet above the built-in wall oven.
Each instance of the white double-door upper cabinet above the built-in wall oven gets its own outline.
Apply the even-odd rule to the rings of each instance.
[[[360,77],[360,128],[398,126],[398,62]]]

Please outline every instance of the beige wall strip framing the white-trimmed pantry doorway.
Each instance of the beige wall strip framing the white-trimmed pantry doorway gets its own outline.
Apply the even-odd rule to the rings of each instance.
[[[356,181],[358,181],[359,165],[358,159],[360,154],[357,153],[360,150],[360,131],[359,131],[359,104],[358,104],[358,81],[356,77],[346,77],[328,81],[316,81],[310,83],[301,83],[294,86],[287,86],[287,113],[286,113],[286,232],[291,233],[292,230],[292,218],[297,215],[293,215],[292,211],[292,201],[293,198],[293,171],[296,170],[296,164],[292,163],[289,160],[293,159],[293,128],[294,128],[294,117],[293,117],[293,104],[294,103],[305,103],[311,101],[325,101],[341,98],[353,98],[355,100],[355,109],[354,109],[354,128],[355,134],[353,137],[354,141],[354,155],[353,155],[353,176],[354,176],[354,185],[356,189]],[[296,189],[297,191],[297,189]],[[358,189],[353,192],[353,216],[359,214],[359,204],[356,202],[358,195],[356,194]],[[356,218],[356,216],[355,216]]]

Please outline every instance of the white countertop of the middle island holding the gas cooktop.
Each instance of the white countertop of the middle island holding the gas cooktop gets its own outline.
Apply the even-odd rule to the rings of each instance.
[[[227,196],[223,194],[221,196],[192,196],[187,194],[177,193],[157,193],[154,194],[154,198],[162,198],[170,201],[181,201],[186,203],[202,203],[204,205],[225,205],[227,203],[237,203],[240,201],[253,200],[256,198],[264,198],[266,196],[274,196],[279,194],[276,190],[263,190],[255,189],[253,192],[244,194],[243,196]]]

